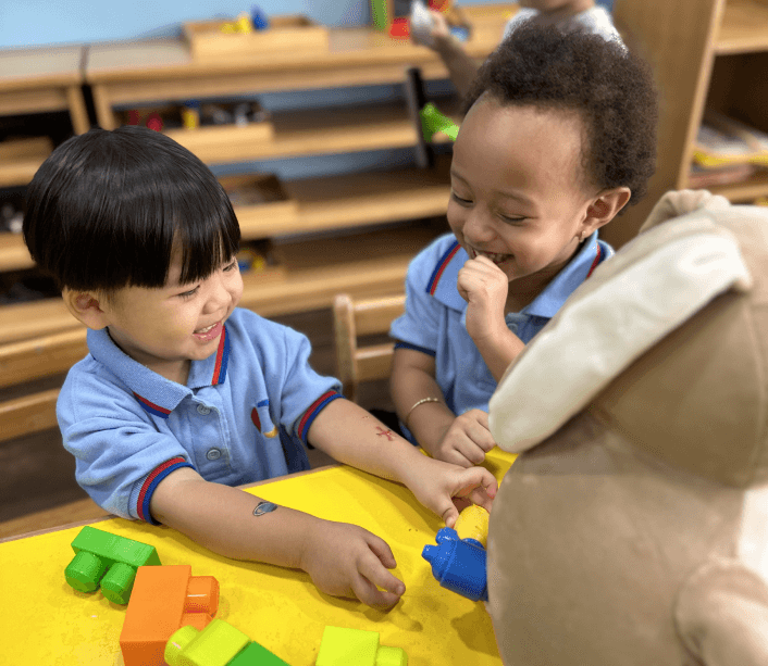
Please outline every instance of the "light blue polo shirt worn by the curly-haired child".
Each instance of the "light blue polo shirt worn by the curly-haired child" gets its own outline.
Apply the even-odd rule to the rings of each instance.
[[[595,266],[612,254],[595,231],[531,303],[506,316],[509,329],[528,344]],[[453,234],[422,250],[408,267],[406,312],[389,328],[396,347],[435,357],[437,386],[457,415],[474,409],[487,412],[496,390],[496,380],[467,332],[467,301],[456,287],[468,260]]]

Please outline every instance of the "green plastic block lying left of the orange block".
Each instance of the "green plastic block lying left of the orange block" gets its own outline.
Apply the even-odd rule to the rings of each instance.
[[[64,569],[64,578],[79,592],[92,592],[99,585],[111,602],[126,604],[131,599],[136,569],[160,566],[153,545],[84,527],[72,542],[75,556]]]

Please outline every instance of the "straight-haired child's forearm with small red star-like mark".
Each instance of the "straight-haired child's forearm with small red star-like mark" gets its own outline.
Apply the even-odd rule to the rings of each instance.
[[[339,463],[409,486],[424,456],[366,410],[331,402],[310,426],[308,440]]]

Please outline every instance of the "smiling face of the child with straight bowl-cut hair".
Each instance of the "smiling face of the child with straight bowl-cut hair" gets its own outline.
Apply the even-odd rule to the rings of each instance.
[[[132,359],[178,381],[190,361],[214,353],[222,326],[243,296],[237,262],[223,263],[202,280],[178,285],[175,255],[159,289],[125,287],[102,301],[110,337]]]

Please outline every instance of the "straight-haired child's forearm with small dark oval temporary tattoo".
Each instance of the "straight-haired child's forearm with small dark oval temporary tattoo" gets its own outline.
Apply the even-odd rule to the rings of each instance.
[[[154,491],[150,511],[156,520],[226,557],[304,568],[305,540],[320,518],[286,506],[255,516],[261,498],[196,473],[185,476]]]

